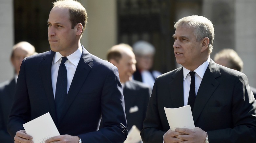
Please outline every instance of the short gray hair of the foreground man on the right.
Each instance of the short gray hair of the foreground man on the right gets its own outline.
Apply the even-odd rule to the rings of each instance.
[[[209,38],[208,54],[210,55],[212,53],[214,28],[210,20],[198,15],[186,16],[181,18],[177,23],[174,24],[174,28],[176,29],[177,27],[194,28],[194,34],[197,41],[200,41],[205,37]]]

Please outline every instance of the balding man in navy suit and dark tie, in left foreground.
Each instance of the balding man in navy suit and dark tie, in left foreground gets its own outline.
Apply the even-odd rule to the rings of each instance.
[[[60,135],[45,143],[121,143],[126,139],[118,70],[80,44],[86,21],[86,10],[79,2],[53,3],[48,19],[51,51],[27,57],[21,64],[8,123],[15,142],[31,142],[22,124],[47,112]]]

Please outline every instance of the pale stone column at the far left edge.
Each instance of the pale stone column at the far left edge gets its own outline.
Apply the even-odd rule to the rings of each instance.
[[[0,82],[14,75],[10,56],[14,44],[13,1],[0,0]]]

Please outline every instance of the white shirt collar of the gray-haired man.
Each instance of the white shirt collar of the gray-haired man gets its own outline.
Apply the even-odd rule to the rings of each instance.
[[[209,57],[202,65],[200,65],[196,70],[196,74],[198,74],[202,79],[203,79],[203,75],[209,65],[211,61],[211,58]],[[186,69],[183,67],[183,81],[186,79],[187,74],[190,72],[190,70]]]

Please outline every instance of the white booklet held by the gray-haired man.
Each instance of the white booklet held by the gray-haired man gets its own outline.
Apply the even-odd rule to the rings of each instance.
[[[170,129],[174,131],[176,128],[194,129],[195,124],[191,112],[190,105],[186,105],[179,108],[166,108],[164,111],[170,126]]]

